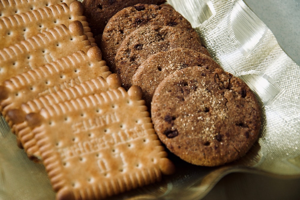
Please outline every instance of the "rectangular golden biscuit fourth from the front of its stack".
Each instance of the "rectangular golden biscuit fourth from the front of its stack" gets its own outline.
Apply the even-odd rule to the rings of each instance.
[[[0,50],[0,83],[17,74],[40,67],[59,58],[91,48],[79,21],[67,28],[59,25],[27,40]]]

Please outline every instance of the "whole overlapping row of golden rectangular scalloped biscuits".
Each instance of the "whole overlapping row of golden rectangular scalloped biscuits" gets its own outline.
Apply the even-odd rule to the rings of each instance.
[[[57,199],[104,199],[174,172],[142,90],[121,87],[75,0],[0,1],[0,112]]]

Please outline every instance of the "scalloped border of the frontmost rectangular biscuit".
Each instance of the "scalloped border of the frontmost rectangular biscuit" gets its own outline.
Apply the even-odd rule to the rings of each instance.
[[[51,143],[49,137],[51,134],[46,133],[44,124],[48,124],[50,116],[61,115],[65,112],[65,109],[71,110],[74,105],[90,106],[93,102],[99,104],[107,101],[113,101],[118,98],[128,98],[128,102],[135,101],[137,103],[137,109],[143,113],[143,117],[140,120],[143,121],[143,128],[148,134],[148,138],[152,139],[152,144],[155,144],[153,151],[158,152],[159,160],[157,166],[151,169],[138,170],[137,172],[130,172],[122,177],[112,180],[104,180],[103,182],[97,182],[94,184],[85,185],[85,187],[78,188],[68,183],[67,177],[63,172],[63,163],[61,161],[58,151],[55,151],[55,144]],[[146,184],[153,183],[161,180],[162,174],[172,174],[174,172],[173,163],[167,158],[167,153],[164,147],[161,145],[158,136],[155,134],[151,118],[145,106],[145,102],[141,100],[142,91],[138,86],[132,86],[128,92],[124,88],[120,87],[107,93],[90,95],[85,98],[71,100],[68,105],[62,104],[54,105],[43,109],[40,113],[32,113],[26,123],[29,127],[32,127],[32,134],[37,139],[38,148],[41,151],[41,159],[48,173],[53,190],[57,192],[56,199],[93,199],[93,198],[105,198],[107,196],[116,195],[126,190],[131,190],[137,187],[142,187]],[[132,103],[132,102],[131,102]],[[85,107],[81,107],[85,109]],[[151,177],[151,178],[150,178]],[[119,188],[116,191],[114,188]]]

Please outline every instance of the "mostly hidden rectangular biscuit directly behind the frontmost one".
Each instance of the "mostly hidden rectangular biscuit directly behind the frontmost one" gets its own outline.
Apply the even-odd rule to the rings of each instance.
[[[116,89],[119,87],[121,87],[121,79],[119,75],[111,74],[106,79],[99,76],[96,79],[83,82],[80,85],[41,96],[37,99],[22,104],[22,115],[39,112],[45,106],[54,105],[91,94],[100,94],[102,92],[106,92],[108,90]],[[30,127],[27,126],[26,122],[21,122],[19,124],[13,125],[13,130],[15,131],[16,136],[19,139],[19,145],[24,148],[29,158],[39,161],[41,153],[38,151],[35,138],[32,134],[23,134],[24,132],[28,133],[28,129],[30,129]]]

